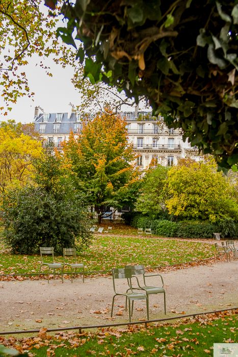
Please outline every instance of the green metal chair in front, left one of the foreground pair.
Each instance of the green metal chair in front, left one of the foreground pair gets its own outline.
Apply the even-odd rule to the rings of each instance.
[[[115,279],[127,279],[127,281],[128,281],[128,279],[131,278],[131,270],[130,269],[123,269],[123,268],[122,269],[112,269],[112,274],[113,274],[113,289],[114,289],[115,295],[113,296],[111,317],[113,316],[114,299],[115,299],[116,296],[120,295],[120,296],[125,296],[126,303],[127,303],[127,299],[128,299],[129,322],[131,322],[131,316],[133,315],[134,300],[146,300],[147,320],[149,320],[149,300],[148,300],[148,296],[146,294],[135,293],[131,286],[128,289],[128,290],[131,291],[129,293],[128,292],[119,293],[119,292],[116,291]],[[132,301],[131,313],[130,313],[130,300]],[[127,309],[125,309],[125,310],[127,310]]]

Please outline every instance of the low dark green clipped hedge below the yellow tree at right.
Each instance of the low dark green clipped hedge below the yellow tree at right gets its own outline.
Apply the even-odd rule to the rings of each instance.
[[[136,216],[130,223],[133,227],[151,228],[153,234],[160,237],[180,238],[213,238],[213,233],[221,233],[221,237],[235,238],[238,236],[238,225],[233,224],[232,229],[227,232],[223,224],[211,224],[200,222],[171,222],[168,220],[151,220],[149,217]],[[227,226],[226,226],[227,228]]]

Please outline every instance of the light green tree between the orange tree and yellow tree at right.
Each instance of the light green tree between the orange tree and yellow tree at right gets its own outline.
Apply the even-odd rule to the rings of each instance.
[[[143,177],[137,211],[148,214],[151,218],[157,218],[161,211],[167,211],[166,200],[169,199],[168,171],[170,167],[158,165],[155,169],[149,168]]]

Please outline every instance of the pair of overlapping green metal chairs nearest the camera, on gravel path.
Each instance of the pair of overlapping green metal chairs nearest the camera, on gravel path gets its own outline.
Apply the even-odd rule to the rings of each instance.
[[[146,300],[146,311],[147,311],[147,320],[149,320],[149,295],[150,294],[164,294],[164,308],[165,308],[165,315],[166,315],[166,296],[165,296],[165,289],[163,277],[160,274],[152,274],[152,275],[145,275],[145,266],[144,265],[127,265],[125,268],[121,269],[112,269],[113,275],[113,288],[115,295],[113,296],[112,302],[112,311],[111,317],[113,316],[113,307],[114,307],[114,299],[116,296],[125,296],[125,311],[127,311],[127,299],[128,299],[128,310],[129,310],[129,322],[131,322],[131,317],[133,316],[133,307],[135,300]],[[138,276],[143,275],[143,282],[144,286],[141,286]],[[146,285],[145,279],[151,276],[160,276],[162,280],[162,287],[154,287]],[[127,279],[127,283],[129,288],[126,290],[125,293],[120,293],[116,291],[115,279]],[[138,286],[133,288],[131,279],[136,278]],[[140,290],[142,292],[135,292],[134,290]],[[130,311],[130,301],[131,304],[131,311]]]

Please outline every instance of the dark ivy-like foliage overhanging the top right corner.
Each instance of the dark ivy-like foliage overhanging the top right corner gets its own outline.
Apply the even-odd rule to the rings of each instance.
[[[238,162],[236,1],[77,0],[62,10],[91,83],[145,96],[219,169]]]

